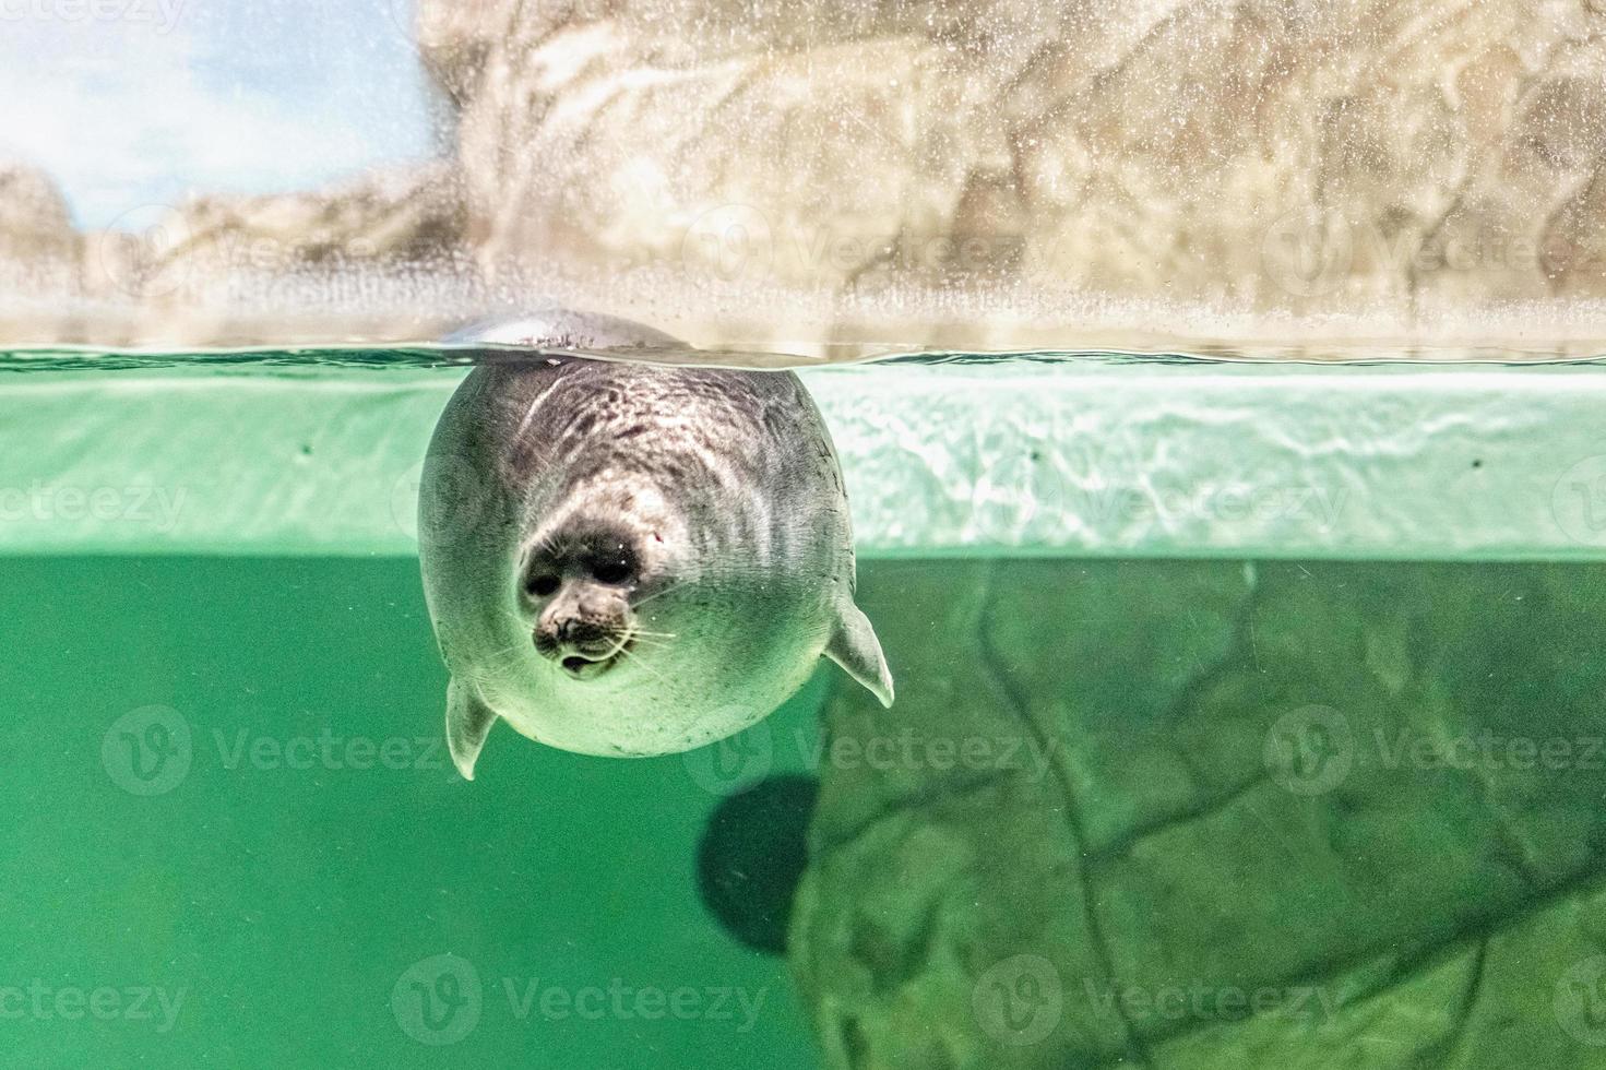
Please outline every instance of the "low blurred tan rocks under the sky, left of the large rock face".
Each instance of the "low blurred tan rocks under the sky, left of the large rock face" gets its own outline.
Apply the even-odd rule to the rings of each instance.
[[[5,172],[0,172],[5,183]],[[450,164],[376,172],[321,191],[201,196],[75,235],[59,194],[0,185],[0,337],[100,345],[424,341],[479,308],[461,186]],[[13,252],[14,251],[14,252]]]

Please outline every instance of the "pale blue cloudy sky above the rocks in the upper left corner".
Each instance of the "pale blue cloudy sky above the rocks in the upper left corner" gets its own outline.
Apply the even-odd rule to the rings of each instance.
[[[413,0],[0,0],[0,161],[84,228],[434,153]]]

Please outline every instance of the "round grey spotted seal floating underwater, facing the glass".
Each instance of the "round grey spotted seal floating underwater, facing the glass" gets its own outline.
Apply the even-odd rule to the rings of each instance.
[[[686,350],[569,312],[458,337]],[[837,453],[789,371],[479,353],[424,461],[419,564],[467,779],[498,720],[593,755],[710,744],[822,655],[893,700]]]

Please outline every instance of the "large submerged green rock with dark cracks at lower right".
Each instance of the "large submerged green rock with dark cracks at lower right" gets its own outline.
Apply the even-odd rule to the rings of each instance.
[[[789,945],[832,1070],[1600,1065],[1596,567],[862,578],[898,705],[827,707]]]

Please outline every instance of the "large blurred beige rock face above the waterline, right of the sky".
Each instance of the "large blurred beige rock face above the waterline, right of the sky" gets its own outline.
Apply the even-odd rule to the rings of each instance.
[[[421,35],[487,272],[702,344],[1588,349],[1603,18],[424,0]]]

